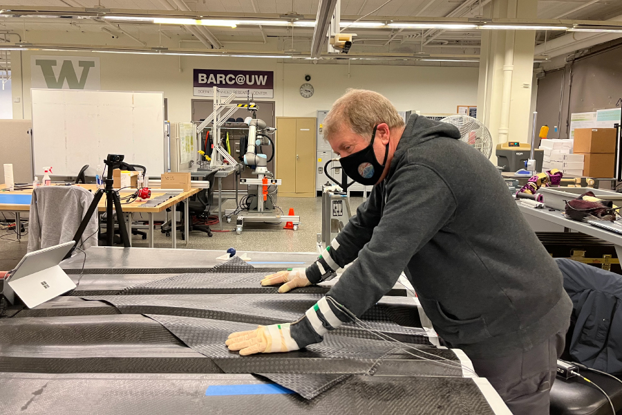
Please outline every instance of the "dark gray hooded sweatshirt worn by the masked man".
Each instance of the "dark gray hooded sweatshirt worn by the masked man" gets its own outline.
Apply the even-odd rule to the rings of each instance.
[[[527,351],[567,328],[572,302],[498,170],[459,138],[411,116],[388,175],[306,274],[315,284],[354,261],[327,297],[360,316],[404,271],[452,347],[471,358]],[[318,304],[291,326],[299,347],[350,321]]]

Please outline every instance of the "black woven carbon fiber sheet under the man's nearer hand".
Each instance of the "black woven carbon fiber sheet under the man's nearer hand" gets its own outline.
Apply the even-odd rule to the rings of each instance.
[[[225,347],[225,340],[234,331],[256,329],[256,324],[224,322],[195,317],[171,315],[147,315],[176,335],[195,351],[214,360],[216,365],[229,374],[297,374],[301,376],[274,376],[279,385],[296,391],[305,398],[314,398],[347,374],[373,375],[380,360],[399,357],[404,364],[417,360],[401,351],[397,344],[383,340],[352,338],[334,333],[324,336],[324,341],[305,349],[289,353],[259,353],[239,356]],[[437,349],[428,349],[435,353]],[[442,351],[445,353],[446,351]],[[450,352],[451,353],[451,352]],[[455,373],[455,369],[447,368]],[[315,374],[334,375],[316,378]]]

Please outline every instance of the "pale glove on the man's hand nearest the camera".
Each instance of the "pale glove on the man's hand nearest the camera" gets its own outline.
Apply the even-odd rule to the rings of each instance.
[[[255,330],[231,333],[225,344],[229,350],[239,350],[241,356],[300,349],[290,335],[290,323],[257,326]]]

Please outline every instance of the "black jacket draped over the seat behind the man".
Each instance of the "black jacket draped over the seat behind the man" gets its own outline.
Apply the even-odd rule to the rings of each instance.
[[[622,276],[570,259],[556,259],[572,299],[572,360],[622,374]]]

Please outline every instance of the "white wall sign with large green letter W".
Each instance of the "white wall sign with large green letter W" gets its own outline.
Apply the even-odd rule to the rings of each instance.
[[[31,87],[47,89],[100,89],[100,58],[32,56]]]

